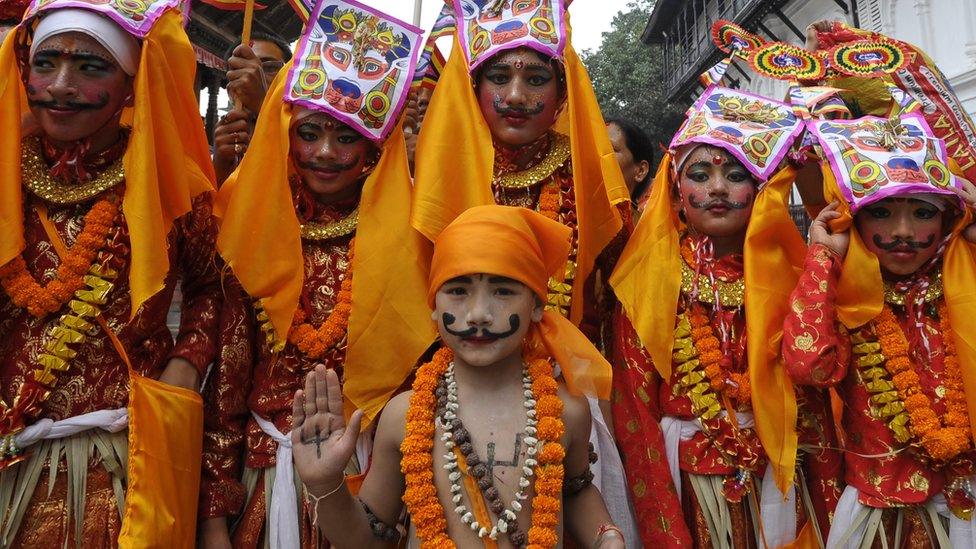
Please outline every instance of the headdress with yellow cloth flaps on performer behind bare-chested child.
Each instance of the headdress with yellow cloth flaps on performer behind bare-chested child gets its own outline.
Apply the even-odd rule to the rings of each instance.
[[[572,47],[569,14],[561,0],[455,0],[454,6],[462,23],[417,142],[413,226],[433,239],[466,209],[494,204],[495,153],[471,71],[491,55],[529,47],[555,56],[565,70],[567,105],[554,128],[569,135],[578,227],[575,279],[586,280],[622,226],[613,206],[630,197],[589,75]],[[584,284],[573,285],[569,316],[577,323],[583,292]]]

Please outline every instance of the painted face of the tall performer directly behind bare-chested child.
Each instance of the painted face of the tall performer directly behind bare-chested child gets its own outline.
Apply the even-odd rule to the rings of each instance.
[[[545,135],[564,99],[556,70],[527,48],[487,61],[476,91],[492,137],[506,147],[528,145]]]

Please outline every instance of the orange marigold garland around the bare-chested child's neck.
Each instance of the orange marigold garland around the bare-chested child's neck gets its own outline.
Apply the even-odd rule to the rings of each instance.
[[[565,433],[562,422],[562,401],[557,396],[558,384],[553,379],[552,365],[541,352],[532,353],[527,360],[532,380],[532,397],[536,400],[539,420],[539,452],[535,469],[535,497],[532,498],[532,525],[529,528],[529,549],[555,547],[559,541],[556,528],[562,502],[563,459],[565,449],[561,439]],[[413,394],[407,409],[407,425],[400,444],[400,470],[406,480],[403,501],[417,529],[422,547],[454,548],[447,535],[444,508],[434,486],[434,436],[437,383],[454,359],[453,352],[441,348],[433,359],[420,367],[413,384]]]

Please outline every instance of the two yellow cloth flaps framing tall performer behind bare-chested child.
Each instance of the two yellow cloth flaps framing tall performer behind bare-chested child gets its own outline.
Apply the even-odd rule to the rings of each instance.
[[[578,324],[586,301],[583,282],[622,227],[612,204],[629,200],[629,195],[593,86],[569,39],[563,57],[567,109],[555,128],[568,129],[570,138],[579,238],[570,319]],[[417,142],[413,226],[433,240],[464,210],[493,204],[494,162],[491,131],[455,36]]]

